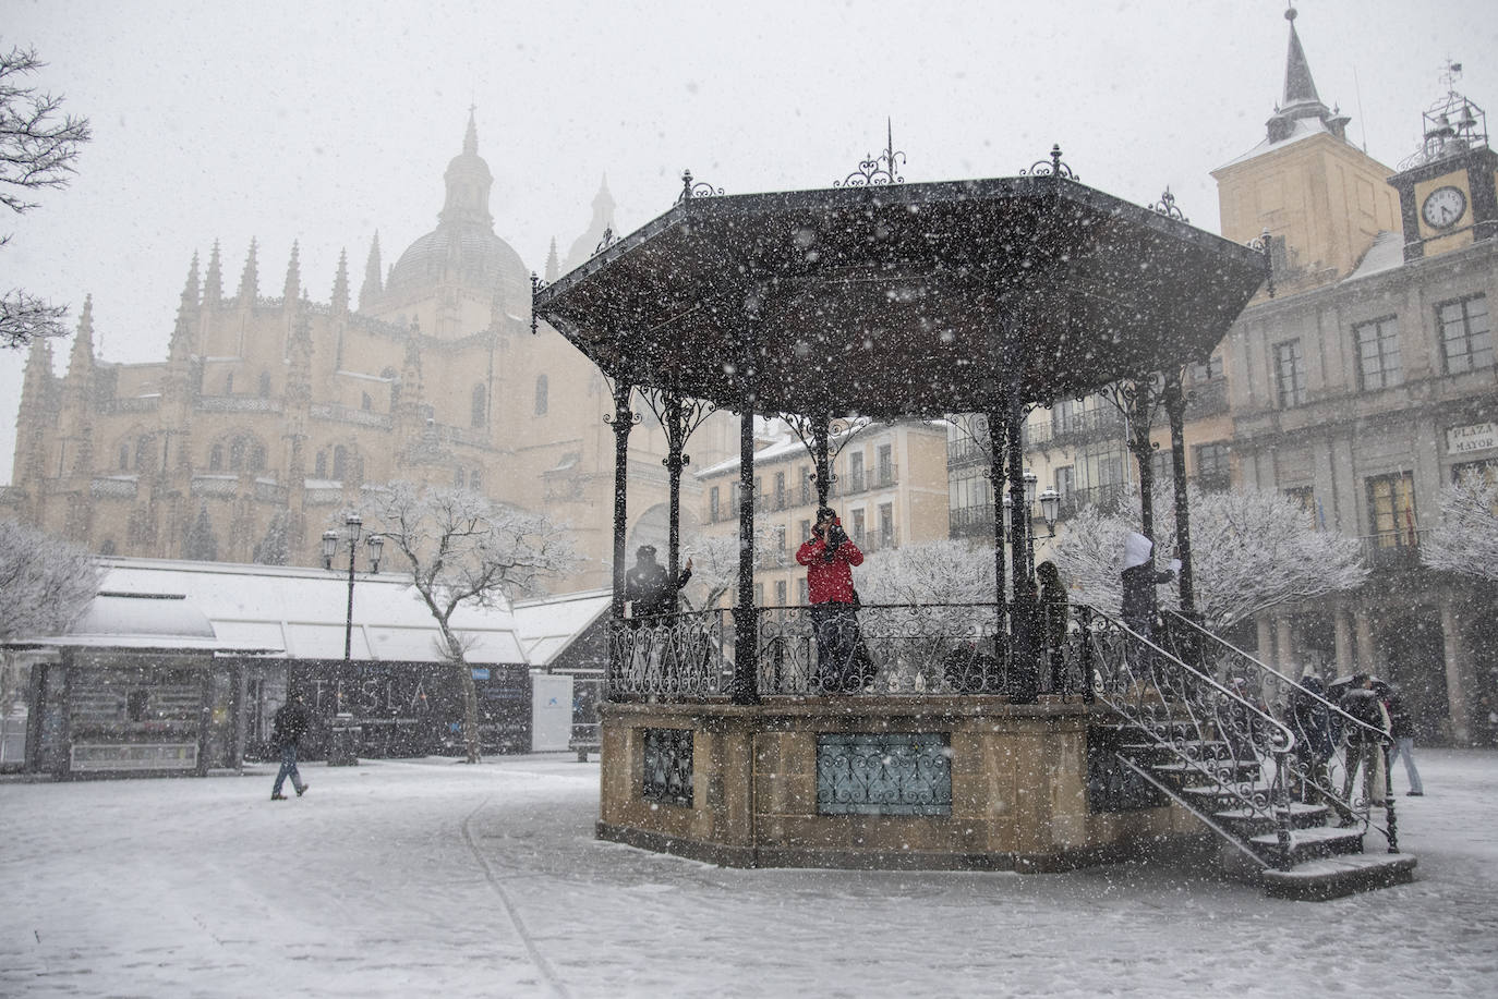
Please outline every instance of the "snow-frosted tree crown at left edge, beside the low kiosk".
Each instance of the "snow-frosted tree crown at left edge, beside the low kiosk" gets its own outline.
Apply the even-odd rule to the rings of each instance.
[[[99,592],[99,568],[79,545],[0,520],[0,641],[57,635]],[[0,714],[19,693],[0,669]]]

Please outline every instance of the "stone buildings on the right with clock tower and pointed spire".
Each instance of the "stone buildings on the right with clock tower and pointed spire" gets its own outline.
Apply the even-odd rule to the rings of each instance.
[[[1284,99],[1263,141],[1213,171],[1222,235],[1272,237],[1275,292],[1185,371],[1186,475],[1296,497],[1318,529],[1359,538],[1371,571],[1354,592],[1263,613],[1234,638],[1296,675],[1402,684],[1423,738],[1492,743],[1498,595],[1425,568],[1420,544],[1444,485],[1498,475],[1498,154],[1449,76],[1420,150],[1398,169],[1368,156],[1321,102],[1288,18]],[[1150,437],[1155,481],[1168,482],[1164,421]],[[959,430],[950,449],[951,530],[992,538],[986,449]],[[1122,409],[1103,395],[1037,409],[1025,454],[1062,494],[1061,530],[1138,481]]]

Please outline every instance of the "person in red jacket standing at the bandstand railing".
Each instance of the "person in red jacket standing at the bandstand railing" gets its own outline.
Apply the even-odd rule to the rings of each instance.
[[[816,634],[816,675],[825,693],[845,693],[861,686],[857,677],[858,619],[852,589],[852,566],[863,553],[842,529],[830,506],[816,509],[816,527],[797,551],[806,566],[806,598]]]

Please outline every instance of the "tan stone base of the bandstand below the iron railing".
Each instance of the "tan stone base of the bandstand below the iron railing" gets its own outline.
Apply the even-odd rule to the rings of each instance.
[[[1019,872],[1200,842],[1204,828],[1179,806],[1092,810],[1088,731],[1109,720],[1098,705],[1046,698],[1026,705],[999,696],[605,704],[598,837],[727,867]],[[652,729],[668,729],[683,746],[689,740],[689,803],[647,789]],[[944,740],[947,813],[827,813],[819,806],[818,737],[881,734]]]

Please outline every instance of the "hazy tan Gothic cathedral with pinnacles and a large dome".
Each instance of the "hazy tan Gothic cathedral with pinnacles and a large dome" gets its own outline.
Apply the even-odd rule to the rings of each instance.
[[[282,294],[262,295],[253,243],[226,294],[216,244],[204,271],[193,258],[163,362],[99,358],[85,303],[66,374],[31,347],[0,506],[100,554],[318,565],[361,487],[464,485],[571,524],[584,562],[562,589],[607,583],[613,400],[575,347],[532,333],[530,271],[494,234],[491,184],[470,115],[437,226],[388,271],[376,235],[357,297],[340,259],[331,301],[309,301],[295,244]],[[568,265],[611,225],[605,186]],[[553,244],[547,276],[560,267]],[[692,440],[707,461],[733,442],[727,419]],[[658,425],[631,436],[631,523],[647,530],[664,454]]]

